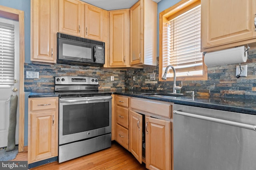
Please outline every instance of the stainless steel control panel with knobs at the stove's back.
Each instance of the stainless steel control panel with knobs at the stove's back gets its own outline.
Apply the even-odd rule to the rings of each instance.
[[[55,84],[57,85],[98,85],[96,77],[86,76],[56,76]]]

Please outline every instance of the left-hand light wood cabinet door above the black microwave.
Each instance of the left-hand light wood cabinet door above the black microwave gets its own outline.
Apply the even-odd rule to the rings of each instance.
[[[59,0],[59,31],[84,35],[84,6],[78,0]]]

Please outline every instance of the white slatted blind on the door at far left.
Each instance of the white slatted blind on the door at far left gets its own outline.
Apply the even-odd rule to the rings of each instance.
[[[0,85],[14,84],[14,25],[0,22]]]

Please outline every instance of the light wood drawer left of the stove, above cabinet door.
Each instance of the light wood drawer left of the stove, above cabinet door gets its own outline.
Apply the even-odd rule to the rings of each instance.
[[[56,109],[58,98],[37,98],[31,99],[30,111]]]

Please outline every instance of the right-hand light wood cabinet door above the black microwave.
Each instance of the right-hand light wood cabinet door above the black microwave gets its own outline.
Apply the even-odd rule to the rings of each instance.
[[[104,10],[85,4],[85,37],[103,40],[103,14]]]

